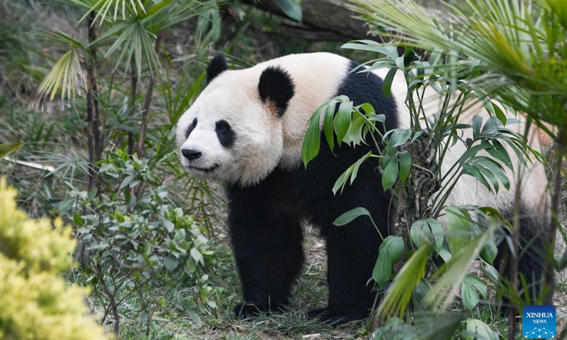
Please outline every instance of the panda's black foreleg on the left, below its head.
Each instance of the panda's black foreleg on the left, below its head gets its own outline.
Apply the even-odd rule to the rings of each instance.
[[[299,218],[262,203],[233,200],[228,222],[244,295],[235,314],[248,318],[281,310],[303,266]]]

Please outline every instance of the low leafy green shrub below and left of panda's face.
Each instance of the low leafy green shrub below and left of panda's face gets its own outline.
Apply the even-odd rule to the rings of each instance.
[[[199,322],[197,312],[216,307],[204,273],[213,255],[204,229],[172,205],[147,159],[118,150],[100,165],[103,192],[72,191],[60,208],[72,209],[85,269],[108,295],[108,308],[119,307],[122,288],[136,294],[149,332],[159,307],[153,290],[182,280],[193,295],[179,296],[176,306]]]

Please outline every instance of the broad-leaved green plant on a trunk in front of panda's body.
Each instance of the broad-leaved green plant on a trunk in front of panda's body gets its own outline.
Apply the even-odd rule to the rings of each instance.
[[[367,3],[360,6],[366,8],[363,13],[367,13],[369,18],[375,13],[383,15],[381,8]],[[386,12],[396,11],[400,16],[406,10],[396,4],[388,6],[391,7]],[[408,8],[412,6],[415,5],[409,4]],[[368,8],[372,8],[372,13]],[[407,18],[405,20],[408,21]],[[415,30],[419,26],[407,24]],[[427,35],[430,40],[447,39],[444,32],[436,29],[427,27],[420,36]],[[391,34],[400,38],[398,33]],[[415,41],[410,38],[410,42]],[[419,44],[414,46],[423,47]],[[391,259],[393,255],[381,247],[373,278],[379,289],[387,289],[376,315],[383,319],[401,316],[409,302],[414,300],[418,301],[414,309],[424,304],[425,310],[431,312],[447,310],[459,291],[464,306],[474,310],[481,298],[487,299],[489,283],[468,274],[468,268],[473,261],[481,261],[486,276],[495,287],[502,287],[505,280],[492,266],[497,254],[495,230],[498,225],[505,225],[513,233],[513,228],[503,220],[500,212],[492,208],[446,207],[445,202],[461,176],[473,176],[489,192],[498,193],[502,187],[509,190],[512,181],[508,176],[517,171],[515,166],[526,165],[534,159],[539,162],[541,155],[528,145],[522,134],[510,128],[518,123],[507,118],[515,109],[492,100],[495,89],[482,83],[488,76],[485,64],[478,60],[463,54],[459,57],[459,53],[451,49],[432,50],[427,59],[420,60],[415,57],[412,47],[406,48],[404,55],[398,55],[393,45],[371,40],[349,42],[343,47],[383,56],[366,62],[366,69],[354,72],[389,68],[384,79],[386,94],[390,93],[396,73],[403,74],[408,86],[406,105],[411,114],[410,130],[384,132],[384,118],[379,108],[371,108],[369,104],[354,106],[349,98],[342,96],[332,99],[315,112],[302,150],[303,163],[308,166],[308,162],[318,154],[322,135],[331,149],[336,147],[333,144],[335,136],[338,147],[342,142],[350,146],[361,142],[374,146],[373,152],[361,157],[339,176],[333,192],[339,194],[344,186],[352,183],[359,166],[366,159],[378,159],[382,187],[392,193],[393,208],[398,212],[395,237],[403,239],[406,244],[405,250],[403,246],[396,248],[401,249],[404,255],[398,257],[396,251],[395,261],[400,258],[407,260],[401,269],[392,273],[395,268],[395,261]],[[428,117],[423,106],[431,100],[432,94],[439,96],[439,112]],[[462,123],[461,116],[471,107],[473,110],[484,108],[492,116],[488,119],[468,117],[466,123]],[[463,137],[465,134],[466,137]],[[449,147],[457,143],[465,151],[459,154],[457,162],[449,164],[441,172]],[[509,152],[515,154],[522,164],[512,164]],[[439,191],[439,188],[442,190]],[[445,230],[437,220],[444,214],[447,214],[444,217]],[[361,215],[367,214],[356,208],[345,212],[337,220],[344,224]],[[505,242],[511,241],[507,239]],[[432,271],[425,271],[427,266]],[[395,278],[388,285],[391,275]],[[508,296],[512,298],[512,295],[515,301],[523,303],[522,297],[512,293]],[[481,329],[471,322],[470,327],[473,326]],[[474,331],[468,329],[468,333],[473,334]],[[479,331],[478,334],[484,336],[485,332]]]

